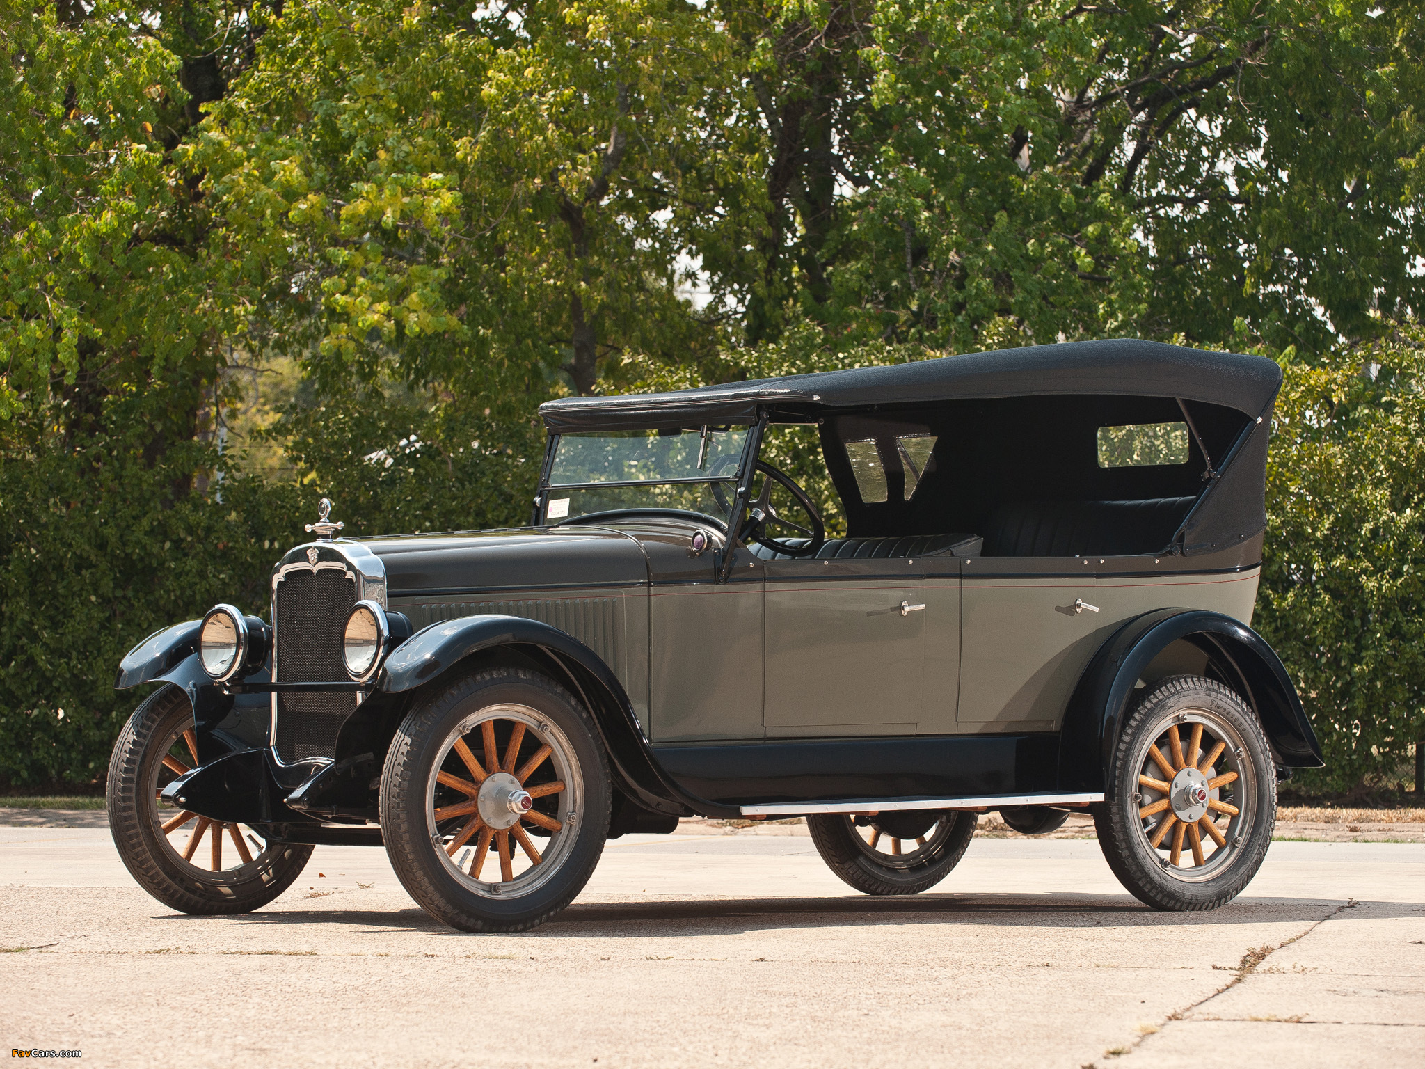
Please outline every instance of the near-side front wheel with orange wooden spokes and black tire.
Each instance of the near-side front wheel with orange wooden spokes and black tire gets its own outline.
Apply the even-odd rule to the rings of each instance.
[[[516,775],[542,747],[550,753]],[[534,795],[526,811],[517,795]],[[392,868],[426,912],[466,932],[519,932],[551,918],[589,882],[610,801],[608,761],[589,713],[546,676],[492,668],[435,691],[406,717],[380,777],[380,827]],[[546,835],[540,849],[532,837]],[[492,845],[500,879],[484,881]]]

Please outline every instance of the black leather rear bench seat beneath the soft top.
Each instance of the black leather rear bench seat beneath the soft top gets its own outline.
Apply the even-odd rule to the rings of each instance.
[[[1167,549],[1196,497],[1131,502],[1015,502],[985,533],[986,557],[1126,556]]]

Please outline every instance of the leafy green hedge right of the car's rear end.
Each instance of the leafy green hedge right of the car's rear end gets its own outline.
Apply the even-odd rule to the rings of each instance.
[[[1305,783],[1394,787],[1425,738],[1425,335],[1285,375],[1255,624],[1325,748]]]

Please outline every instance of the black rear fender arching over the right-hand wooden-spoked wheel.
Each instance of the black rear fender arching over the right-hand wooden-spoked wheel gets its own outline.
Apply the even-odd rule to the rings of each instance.
[[[1064,714],[1060,790],[1116,790],[1109,770],[1131,708],[1134,687],[1153,659],[1178,640],[1208,656],[1208,670],[1251,707],[1273,757],[1285,768],[1320,768],[1317,740],[1297,688],[1275,650],[1240,620],[1201,609],[1157,609],[1123,624],[1094,654]]]

